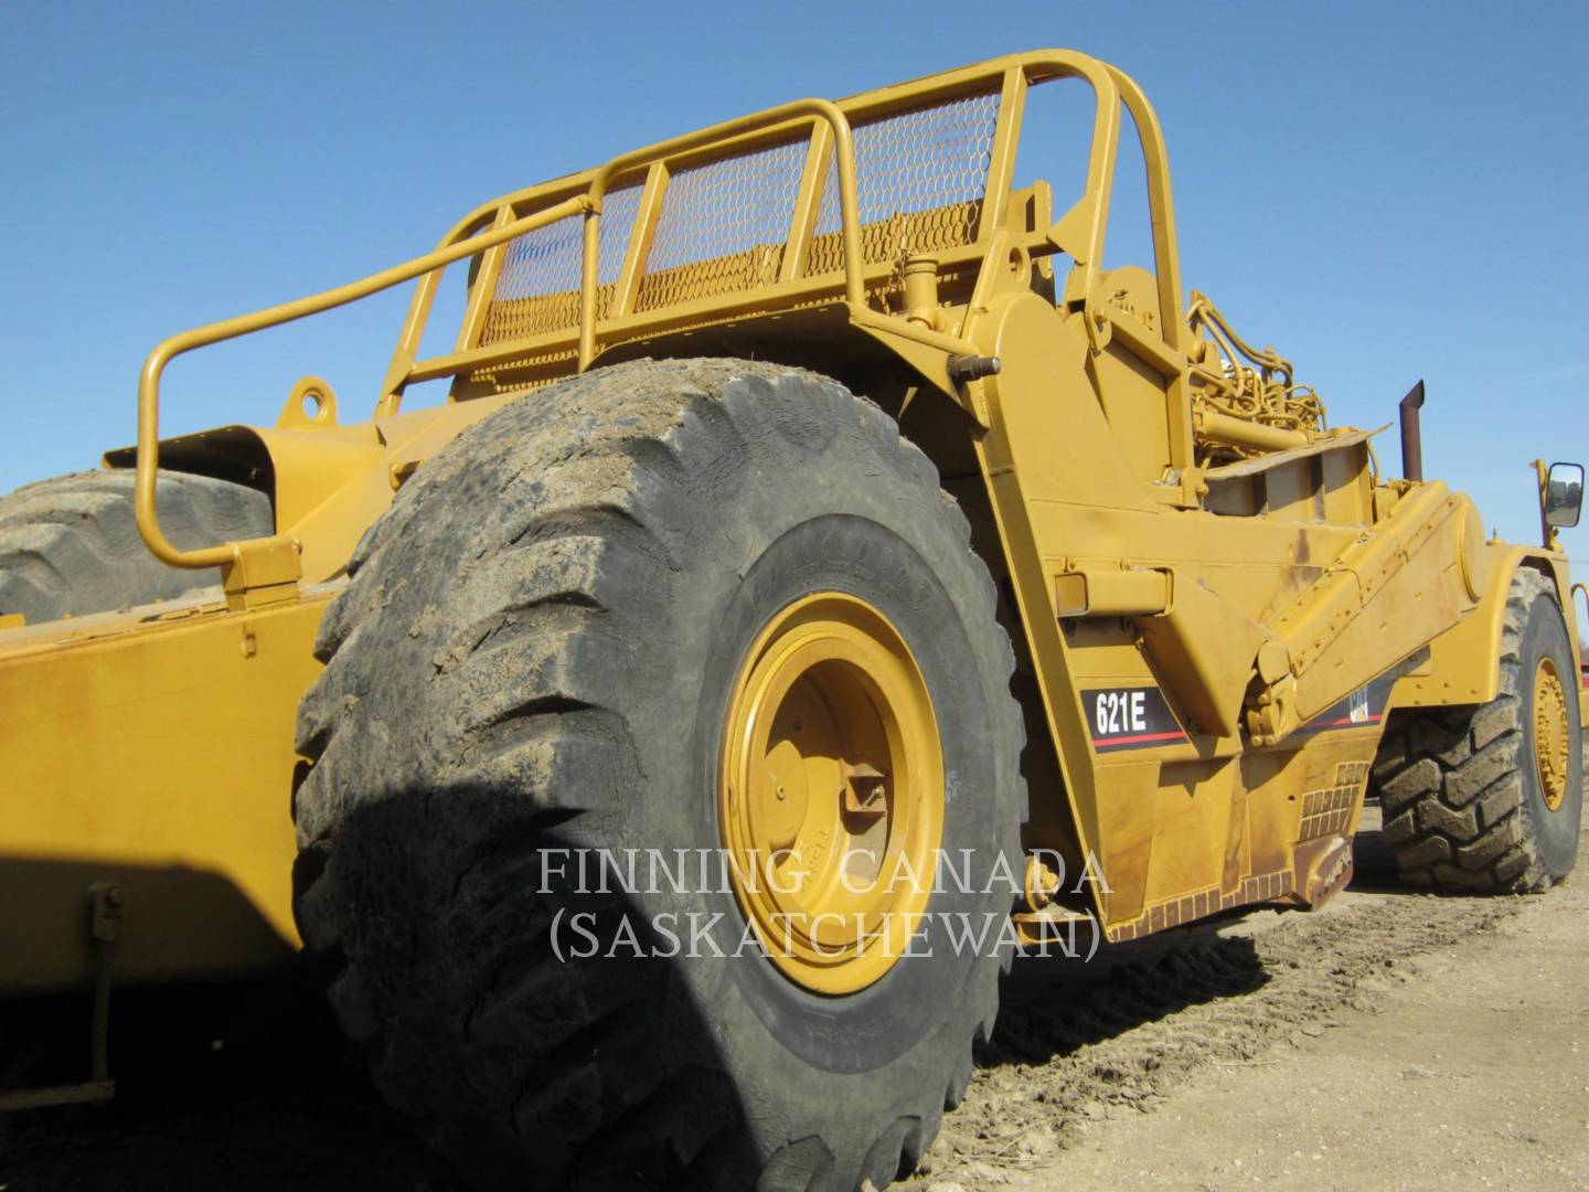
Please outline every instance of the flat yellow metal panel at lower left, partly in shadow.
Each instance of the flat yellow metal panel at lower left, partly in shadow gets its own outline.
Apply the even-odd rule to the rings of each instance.
[[[292,722],[329,598],[0,653],[0,990],[87,977],[92,880],[127,887],[118,981],[292,958]]]

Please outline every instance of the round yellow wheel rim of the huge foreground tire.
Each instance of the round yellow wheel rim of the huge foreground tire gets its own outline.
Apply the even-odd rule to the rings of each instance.
[[[853,993],[896,963],[931,895],[944,761],[922,671],[871,604],[806,596],[756,637],[718,815],[734,893],[785,976]]]

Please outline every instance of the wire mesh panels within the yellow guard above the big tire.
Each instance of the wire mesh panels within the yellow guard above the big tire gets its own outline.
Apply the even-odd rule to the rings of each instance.
[[[998,92],[968,95],[855,126],[861,257],[893,264],[910,253],[971,245],[987,194]],[[783,254],[809,138],[690,165],[667,180],[636,294],[637,313],[772,284]],[[809,277],[842,272],[839,172],[829,157]],[[640,200],[632,183],[607,195],[601,216],[596,316],[612,310]],[[578,326],[582,218],[513,240],[493,291],[481,345]]]

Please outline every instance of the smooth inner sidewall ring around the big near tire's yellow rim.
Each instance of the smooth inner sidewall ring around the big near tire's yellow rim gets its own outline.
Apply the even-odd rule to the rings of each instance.
[[[974,853],[969,882],[949,880],[934,890],[912,955],[858,993],[834,998],[807,992],[761,957],[723,962],[734,997],[780,1046],[825,1071],[863,1073],[893,1062],[952,1020],[979,962],[987,960],[976,952],[957,954],[947,923],[980,928],[992,915],[992,944],[1011,890],[993,873],[996,806],[969,788],[972,776],[996,771],[996,760],[987,701],[976,682],[980,668],[961,610],[907,542],[855,517],[822,515],[801,523],[715,602],[721,609],[713,618],[717,642],[704,668],[693,733],[690,788],[698,795],[688,804],[691,838],[701,847],[721,844],[713,795],[718,752],[728,693],[745,652],[774,613],[817,591],[860,596],[888,617],[910,647],[933,696],[944,750],[942,849],[949,857],[960,857],[961,849]],[[744,917],[731,893],[715,892],[707,909],[725,915],[726,939],[740,936]]]

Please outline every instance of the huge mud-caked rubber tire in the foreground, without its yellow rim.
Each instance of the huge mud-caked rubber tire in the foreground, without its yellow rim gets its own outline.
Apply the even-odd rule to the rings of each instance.
[[[992,1030],[1023,734],[987,571],[895,423],[764,364],[597,370],[459,435],[350,572],[299,715],[297,914],[385,1095],[491,1186],[849,1190],[914,1165]],[[742,892],[694,868],[734,806],[747,656],[814,593],[914,656],[965,871],[918,955],[841,993],[737,947]],[[583,849],[642,868],[593,890]],[[624,922],[679,955],[634,955]]]

